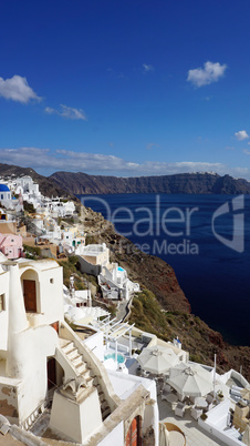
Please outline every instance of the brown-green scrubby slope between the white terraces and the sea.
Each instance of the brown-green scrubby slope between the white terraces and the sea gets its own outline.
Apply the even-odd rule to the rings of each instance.
[[[220,333],[211,330],[198,316],[180,311],[163,311],[155,295],[144,290],[133,300],[129,323],[143,331],[156,334],[164,341],[179,337],[190,359],[213,365],[217,354],[217,369],[220,373],[242,366],[243,375],[250,379],[250,348],[230,346]]]

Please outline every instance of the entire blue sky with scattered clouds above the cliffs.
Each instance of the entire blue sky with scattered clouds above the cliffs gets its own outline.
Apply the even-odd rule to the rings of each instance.
[[[0,162],[250,180],[248,0],[3,2]]]

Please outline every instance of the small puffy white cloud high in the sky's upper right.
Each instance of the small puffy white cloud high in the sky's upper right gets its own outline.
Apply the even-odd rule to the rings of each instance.
[[[206,62],[204,68],[196,68],[188,71],[187,81],[194,83],[196,87],[209,85],[209,83],[217,82],[222,78],[227,65],[221,65],[219,62]]]

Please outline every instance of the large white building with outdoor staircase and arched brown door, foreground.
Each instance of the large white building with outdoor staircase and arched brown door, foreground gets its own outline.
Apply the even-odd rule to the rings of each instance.
[[[102,354],[102,332],[93,328],[82,342],[64,322],[55,261],[0,257],[0,414],[27,430],[38,428],[41,437],[49,427],[83,445],[122,446],[131,435],[139,442],[149,435],[157,445],[155,383],[108,374],[95,349]]]

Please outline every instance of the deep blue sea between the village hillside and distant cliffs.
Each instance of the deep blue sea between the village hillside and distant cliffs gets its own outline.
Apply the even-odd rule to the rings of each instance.
[[[82,199],[84,205],[111,220],[117,232],[174,267],[192,313],[229,342],[250,345],[250,196],[112,194]],[[215,219],[217,236],[225,237],[221,242],[211,222],[227,202],[229,209]],[[231,247],[225,240],[231,241]]]

